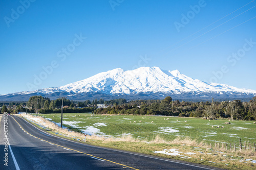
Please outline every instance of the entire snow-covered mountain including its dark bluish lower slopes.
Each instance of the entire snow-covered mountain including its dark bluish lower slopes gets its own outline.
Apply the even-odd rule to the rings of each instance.
[[[95,98],[162,99],[170,95],[176,99],[242,99],[252,98],[256,90],[240,89],[225,84],[205,83],[189,78],[178,70],[165,71],[159,67],[140,67],[124,71],[116,68],[101,72],[88,79],[70,83],[58,88],[46,88],[35,91],[0,95],[0,100],[29,98],[42,95],[57,98],[68,96],[72,100]]]

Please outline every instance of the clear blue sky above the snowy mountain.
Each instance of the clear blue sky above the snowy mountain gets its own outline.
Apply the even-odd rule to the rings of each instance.
[[[139,66],[256,90],[255,6],[251,0],[1,1],[0,94]]]

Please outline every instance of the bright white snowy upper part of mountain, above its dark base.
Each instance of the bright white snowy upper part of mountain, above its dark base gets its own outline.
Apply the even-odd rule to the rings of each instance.
[[[240,92],[255,90],[238,89],[217,83],[205,83],[181,74],[178,70],[165,71],[159,67],[139,67],[124,71],[116,68],[101,72],[88,79],[59,87],[68,92],[100,92],[105,94],[136,94],[143,92]]]

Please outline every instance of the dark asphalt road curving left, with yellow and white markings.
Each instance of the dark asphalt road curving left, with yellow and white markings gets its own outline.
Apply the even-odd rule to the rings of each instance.
[[[1,170],[218,169],[63,139],[38,129],[21,117],[10,115],[5,121],[4,116],[1,119],[0,159]]]

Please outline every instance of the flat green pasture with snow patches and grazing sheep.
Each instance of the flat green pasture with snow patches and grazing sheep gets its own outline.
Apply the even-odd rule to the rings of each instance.
[[[61,114],[39,115],[50,118],[55,123],[60,123]],[[225,122],[229,122],[227,119],[209,121],[189,117],[141,115],[94,115],[92,117],[91,115],[90,113],[63,113],[62,124],[69,129],[87,134],[114,137],[131,134],[134,138],[148,141],[159,135],[166,141],[173,140],[177,136],[188,136],[208,143],[238,143],[239,138],[242,142],[256,142],[256,124],[253,124],[253,121],[234,120],[230,121],[231,124],[225,125]],[[166,120],[166,118],[169,119]],[[141,123],[139,123],[140,120]],[[151,123],[152,121],[154,123]],[[217,128],[217,126],[220,128]],[[222,126],[224,128],[221,128]]]

